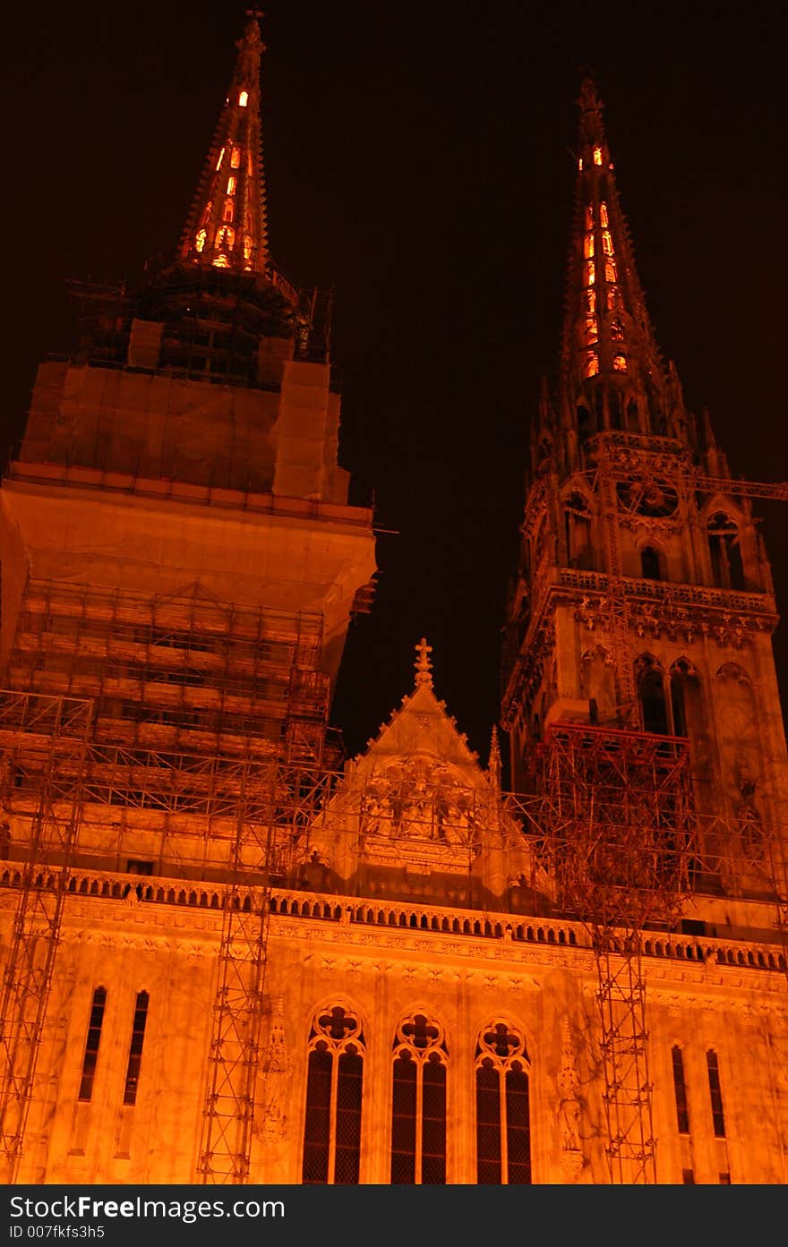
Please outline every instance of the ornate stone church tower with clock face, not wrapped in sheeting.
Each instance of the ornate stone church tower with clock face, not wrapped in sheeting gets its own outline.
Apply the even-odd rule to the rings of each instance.
[[[788,489],[734,480],[708,415],[687,410],[646,311],[591,80],[579,102],[559,377],[534,426],[507,607],[512,786],[530,787],[557,723],[686,741],[704,885],[768,890],[763,842],[788,759],[752,499]]]

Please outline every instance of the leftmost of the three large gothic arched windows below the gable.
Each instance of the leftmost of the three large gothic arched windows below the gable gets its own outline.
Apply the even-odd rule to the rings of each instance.
[[[320,1009],[312,1021],[302,1181],[358,1182],[364,1039],[347,1006]]]

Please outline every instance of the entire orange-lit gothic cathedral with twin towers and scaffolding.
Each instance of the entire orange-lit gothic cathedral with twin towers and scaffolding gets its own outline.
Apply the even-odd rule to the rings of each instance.
[[[788,488],[685,407],[586,79],[489,756],[429,624],[344,756],[375,531],[271,261],[262,51],[0,488],[4,1181],[784,1185]]]

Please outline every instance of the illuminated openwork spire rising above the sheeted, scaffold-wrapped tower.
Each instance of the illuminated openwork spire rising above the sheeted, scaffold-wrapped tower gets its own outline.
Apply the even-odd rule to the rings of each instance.
[[[259,117],[264,51],[257,10],[248,10],[229,92],[180,246],[180,258],[237,273],[268,272]]]

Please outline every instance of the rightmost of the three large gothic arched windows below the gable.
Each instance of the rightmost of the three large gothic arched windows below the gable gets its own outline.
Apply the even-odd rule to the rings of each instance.
[[[476,1181],[531,1181],[527,1054],[521,1033],[502,1021],[485,1028],[476,1044]]]

